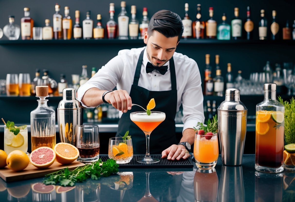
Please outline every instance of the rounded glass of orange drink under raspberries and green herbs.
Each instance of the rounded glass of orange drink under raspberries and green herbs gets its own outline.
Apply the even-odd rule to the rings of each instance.
[[[212,135],[195,135],[194,158],[198,168],[214,168],[218,158],[217,133]]]

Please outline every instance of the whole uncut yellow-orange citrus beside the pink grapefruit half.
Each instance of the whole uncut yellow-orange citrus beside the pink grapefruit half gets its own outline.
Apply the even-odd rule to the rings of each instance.
[[[7,156],[6,164],[11,170],[24,170],[29,165],[29,157],[21,150],[14,150]]]

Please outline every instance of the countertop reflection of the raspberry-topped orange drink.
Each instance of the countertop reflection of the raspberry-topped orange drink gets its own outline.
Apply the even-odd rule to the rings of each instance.
[[[215,168],[197,169],[194,177],[195,201],[216,201],[218,193],[218,177]]]

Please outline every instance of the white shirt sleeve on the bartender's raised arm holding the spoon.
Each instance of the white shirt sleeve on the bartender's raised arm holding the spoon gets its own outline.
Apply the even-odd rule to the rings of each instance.
[[[112,90],[122,77],[124,70],[124,63],[121,56],[117,55],[111,59],[106,65],[102,66],[96,74],[91,77],[85,84],[78,89],[77,99],[86,106],[81,100],[87,90],[90,88],[98,88],[100,90]]]

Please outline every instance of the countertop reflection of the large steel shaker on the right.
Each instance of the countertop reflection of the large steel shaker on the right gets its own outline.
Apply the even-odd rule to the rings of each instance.
[[[242,166],[222,166],[218,201],[245,201]]]

